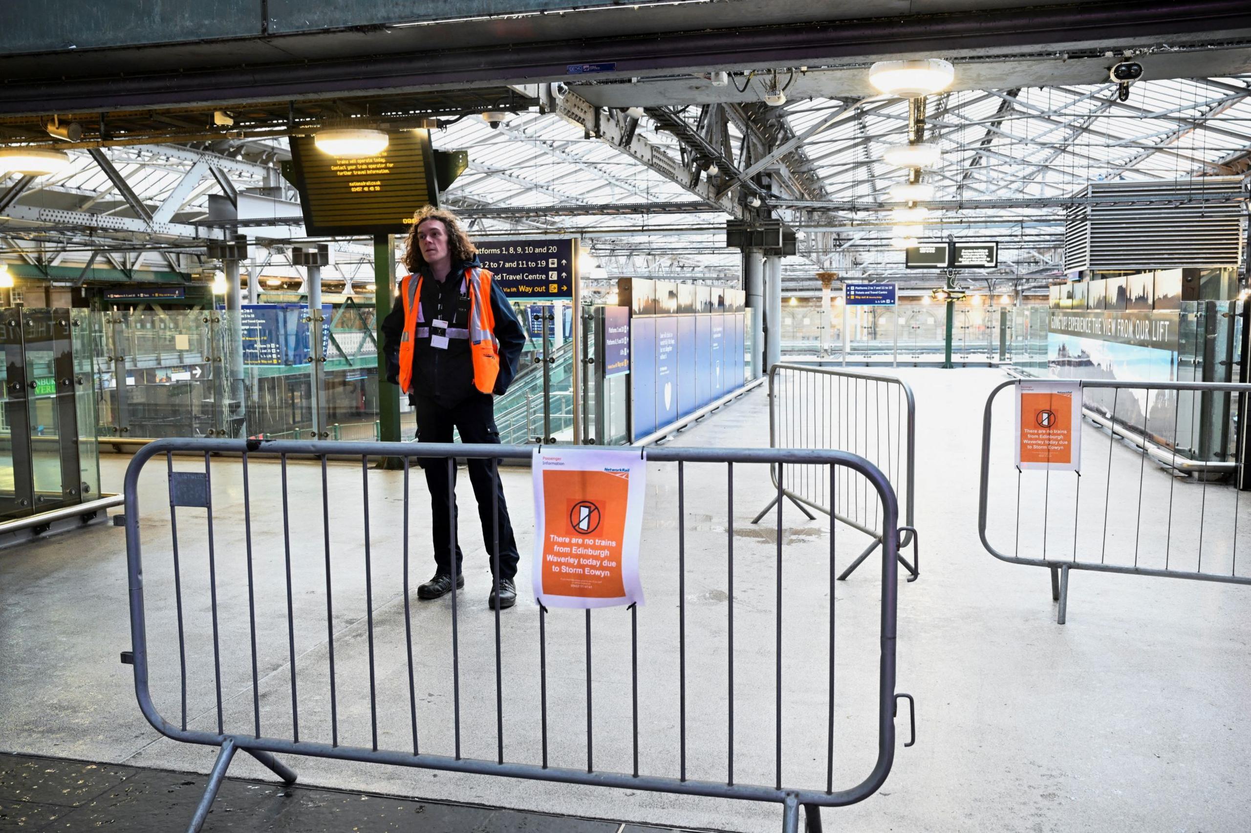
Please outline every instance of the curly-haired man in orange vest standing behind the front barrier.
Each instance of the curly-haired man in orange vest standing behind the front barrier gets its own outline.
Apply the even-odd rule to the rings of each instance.
[[[402,258],[409,275],[400,281],[400,303],[383,321],[387,380],[399,384],[417,409],[419,443],[450,443],[453,428],[465,443],[499,443],[494,396],[504,393],[517,374],[525,344],[517,316],[490,271],[478,261],[478,249],[450,211],[423,208]],[[519,554],[495,478],[498,460],[470,459],[469,482],[478,499],[478,517],[487,553],[499,548],[499,574],[488,604],[510,608],[517,602]],[[438,599],[453,590],[449,508],[455,513],[455,469],[448,483],[448,463],[423,459],[430,489],[430,522],[435,572],[417,588],[422,599]],[[454,523],[454,520],[453,520]],[[499,542],[494,540],[499,529]],[[457,589],[464,587],[457,535]],[[492,570],[495,564],[492,560]]]

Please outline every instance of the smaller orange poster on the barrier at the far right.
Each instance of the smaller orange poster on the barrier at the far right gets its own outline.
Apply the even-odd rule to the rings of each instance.
[[[1021,469],[1080,472],[1082,388],[1076,381],[1018,381],[1016,463]]]

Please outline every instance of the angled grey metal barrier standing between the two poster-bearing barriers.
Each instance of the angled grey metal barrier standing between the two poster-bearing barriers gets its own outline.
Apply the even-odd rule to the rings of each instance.
[[[913,545],[913,495],[916,483],[917,406],[912,388],[896,376],[859,373],[842,368],[806,364],[774,364],[769,368],[769,448],[839,449],[869,460],[886,473],[903,504],[904,525],[897,532],[899,548]],[[878,545],[887,527],[878,517],[877,502],[866,489],[827,489],[824,478],[804,465],[783,465],[787,488],[779,488],[799,510],[813,519],[812,512],[832,515],[853,529],[871,535],[873,542],[856,557],[839,580],[846,580]],[[771,467],[773,485],[778,485],[779,467]],[[902,483],[902,489],[901,489]],[[836,500],[837,498],[837,500]],[[774,503],[756,515],[759,523]],[[894,523],[894,522],[891,522]],[[921,554],[913,547],[909,582],[921,575]]]

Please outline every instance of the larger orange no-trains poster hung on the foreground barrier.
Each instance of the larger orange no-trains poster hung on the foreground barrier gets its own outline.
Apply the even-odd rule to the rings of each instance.
[[[534,598],[548,608],[642,604],[647,462],[629,452],[535,449]]]

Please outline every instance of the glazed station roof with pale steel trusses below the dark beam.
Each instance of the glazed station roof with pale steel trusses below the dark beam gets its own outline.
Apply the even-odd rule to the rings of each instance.
[[[764,78],[784,90],[807,70],[731,76],[747,95]],[[706,81],[703,76],[691,76]],[[889,188],[904,174],[882,161],[907,141],[908,103],[871,95],[794,96],[712,104],[647,103],[549,106],[557,98],[624,104],[626,84],[582,83],[444,90],[404,96],[269,103],[229,109],[214,125],[210,106],[108,114],[78,120],[79,143],[51,140],[43,119],[0,119],[0,143],[55,144],[71,156],[58,175],[0,181],[0,253],[33,265],[113,264],[123,270],[194,273],[205,245],[225,234],[210,219],[213,196],[269,199],[273,216],[239,223],[261,245],[251,265],[295,276],[289,248],[300,241],[298,198],[279,174],[286,136],[327,124],[370,119],[390,129],[427,125],[437,148],[468,150],[469,168],[443,194],[475,235],[573,235],[604,273],[734,283],[741,255],[724,246],[728,219],[776,216],[799,233],[783,261],[789,294],[814,294],[817,271],[867,280],[933,283],[904,271],[891,244]],[[604,89],[600,89],[604,88]],[[613,88],[605,91],[607,88]],[[570,98],[572,96],[572,98]],[[505,113],[495,128],[484,110]],[[555,110],[555,111],[552,111]],[[934,199],[922,239],[996,240],[992,284],[1043,284],[1061,274],[1065,213],[1090,198],[1088,183],[1201,181],[1251,169],[1251,74],[1143,80],[1127,101],[1102,84],[1052,84],[956,91],[926,101],[926,139],[942,160],[923,173]],[[595,129],[598,126],[598,130]],[[634,143],[646,140],[642,158]],[[139,144],[143,143],[143,144]],[[629,153],[633,146],[634,153]],[[1202,199],[1201,196],[1197,199]],[[754,201],[759,205],[753,205]],[[270,226],[283,226],[284,235]],[[372,280],[368,241],[339,240],[327,279]],[[339,274],[335,274],[339,273]],[[259,274],[259,273],[258,273]]]

